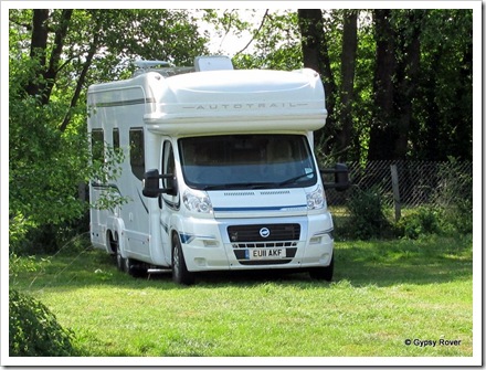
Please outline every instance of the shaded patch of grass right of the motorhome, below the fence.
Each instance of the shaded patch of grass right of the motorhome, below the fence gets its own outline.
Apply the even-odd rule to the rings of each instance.
[[[336,249],[335,281],[355,286],[440,284],[473,277],[467,237],[346,243]]]

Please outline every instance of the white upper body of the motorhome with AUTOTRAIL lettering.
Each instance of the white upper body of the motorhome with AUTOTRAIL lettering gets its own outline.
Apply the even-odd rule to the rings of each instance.
[[[92,85],[88,106],[134,112],[142,105],[148,129],[167,135],[311,131],[326,121],[324,86],[309,68],[161,74]]]

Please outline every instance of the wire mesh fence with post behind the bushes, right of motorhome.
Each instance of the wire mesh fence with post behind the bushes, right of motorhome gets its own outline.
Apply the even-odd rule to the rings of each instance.
[[[469,161],[450,163],[383,160],[370,161],[366,165],[359,162],[347,165],[352,187],[344,192],[328,189],[327,202],[331,207],[346,205],[349,197],[357,189],[373,189],[380,193],[385,207],[397,207],[397,201],[401,207],[435,204],[439,199],[437,190],[450,187],[451,191],[455,189],[459,191],[459,187],[452,186],[452,177],[461,181],[462,178],[472,179],[473,176],[473,163]],[[324,167],[326,166],[321,168]],[[461,193],[456,195],[462,197]]]

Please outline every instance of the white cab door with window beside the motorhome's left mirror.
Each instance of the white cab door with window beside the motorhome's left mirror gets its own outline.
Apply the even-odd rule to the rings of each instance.
[[[175,194],[161,194],[160,195],[160,207],[162,208],[161,224],[162,224],[162,245],[163,253],[166,256],[166,262],[170,265],[172,263],[171,256],[171,216],[172,214],[179,212],[180,210],[180,194],[177,188],[177,176],[176,176],[176,160],[173,157],[172,142],[167,139],[162,144],[162,155],[161,155],[161,173],[172,175],[173,177],[162,179],[162,186],[165,189],[175,188]]]

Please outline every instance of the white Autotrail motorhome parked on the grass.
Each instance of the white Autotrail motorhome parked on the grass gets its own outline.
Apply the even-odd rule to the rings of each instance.
[[[93,144],[120,148],[114,182],[93,179],[91,240],[129,274],[171,268],[192,284],[204,271],[308,269],[330,281],[332,218],[313,154],[326,121],[319,75],[233,70],[228,57],[194,68],[140,63],[126,81],[88,88]],[[331,170],[345,189],[346,167]]]

